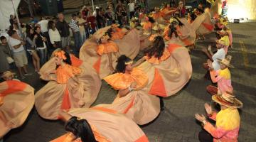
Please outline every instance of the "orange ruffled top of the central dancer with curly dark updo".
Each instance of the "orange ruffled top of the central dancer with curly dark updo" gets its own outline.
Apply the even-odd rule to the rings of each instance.
[[[141,89],[148,82],[146,73],[137,68],[133,68],[131,74],[115,73],[104,78],[104,80],[110,84],[114,89],[127,89],[132,82],[137,82],[137,88]]]

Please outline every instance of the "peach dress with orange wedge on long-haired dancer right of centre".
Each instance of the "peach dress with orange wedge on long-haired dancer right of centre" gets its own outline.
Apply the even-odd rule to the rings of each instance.
[[[188,50],[181,45],[168,45],[160,59],[144,58],[146,61],[138,68],[149,77],[144,87],[149,94],[169,97],[181,90],[191,78],[191,58]]]

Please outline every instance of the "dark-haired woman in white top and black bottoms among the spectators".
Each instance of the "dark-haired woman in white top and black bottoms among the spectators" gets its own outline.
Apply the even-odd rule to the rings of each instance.
[[[48,55],[51,55],[51,53],[53,53],[53,50],[57,48],[62,48],[62,45],[60,41],[60,33],[58,32],[58,29],[56,28],[54,21],[49,21],[48,29],[51,43],[51,46],[48,47]]]

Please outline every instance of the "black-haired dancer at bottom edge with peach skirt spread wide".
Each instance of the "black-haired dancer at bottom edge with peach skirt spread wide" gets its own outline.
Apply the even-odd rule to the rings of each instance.
[[[60,117],[68,133],[50,142],[149,142],[134,121],[111,109],[71,109]]]

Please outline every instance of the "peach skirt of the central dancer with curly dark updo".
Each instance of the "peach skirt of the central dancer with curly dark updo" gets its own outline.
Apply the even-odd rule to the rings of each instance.
[[[124,97],[119,97],[112,104],[98,104],[97,107],[113,109],[125,114],[139,125],[148,124],[160,113],[159,97],[149,95],[146,91],[132,91]]]

